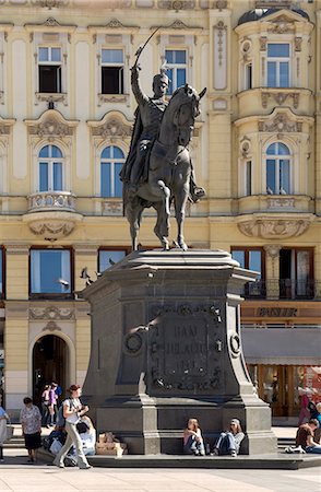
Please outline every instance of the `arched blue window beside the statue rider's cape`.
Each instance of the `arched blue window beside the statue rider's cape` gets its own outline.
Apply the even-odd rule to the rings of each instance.
[[[124,155],[118,147],[106,147],[100,156],[100,196],[121,197],[122,185],[119,173],[124,163]]]

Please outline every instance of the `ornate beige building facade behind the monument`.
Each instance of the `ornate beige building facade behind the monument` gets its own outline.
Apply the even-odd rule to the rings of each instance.
[[[293,9],[290,2],[278,2],[276,11],[255,17],[255,8],[268,9],[271,3],[276,2],[27,0],[19,9],[13,1],[1,5],[0,349],[2,344],[2,389],[9,410],[21,408],[23,396],[35,391],[34,349],[44,337],[61,340],[66,386],[84,380],[91,318],[88,306],[76,295],[86,282],[81,271],[87,267],[95,280],[99,250],[128,253],[131,245],[121,198],[100,196],[100,155],[109,145],[128,153],[135,109],[130,67],[156,27],[140,59],[143,90],[152,95],[152,79],[166,49],[186,50],[187,81],[198,91],[207,87],[190,144],[197,181],[206,197],[188,206],[189,247],[260,248],[264,300],[271,306],[280,301],[280,284],[275,289],[274,282],[281,276],[280,251],[310,248],[313,298],[309,301],[320,306],[321,1],[296,2]],[[273,43],[290,46],[286,87],[268,86],[268,45]],[[61,87],[56,92],[39,90],[40,47],[60,48]],[[103,91],[102,49],[123,52],[119,94]],[[271,195],[266,150],[275,142],[290,151],[290,188]],[[39,192],[39,152],[45,145],[62,152],[61,192]],[[159,247],[154,224],[155,215],[147,210],[139,236],[143,247]],[[170,241],[175,237],[173,218]],[[32,295],[35,248],[69,248],[70,296]],[[245,323],[258,321],[250,311],[243,313],[248,313]],[[301,318],[278,317],[271,323],[302,319],[320,329],[316,309]]]

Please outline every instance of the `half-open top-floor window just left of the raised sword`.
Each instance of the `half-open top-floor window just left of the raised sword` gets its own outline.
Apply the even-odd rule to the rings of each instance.
[[[122,49],[102,49],[102,94],[123,94]]]

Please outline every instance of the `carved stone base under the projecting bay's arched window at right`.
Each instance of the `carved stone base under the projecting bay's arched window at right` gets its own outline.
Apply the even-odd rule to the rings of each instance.
[[[309,226],[310,221],[302,219],[253,219],[238,223],[238,229],[246,236],[263,237],[264,239],[297,237],[304,234]]]

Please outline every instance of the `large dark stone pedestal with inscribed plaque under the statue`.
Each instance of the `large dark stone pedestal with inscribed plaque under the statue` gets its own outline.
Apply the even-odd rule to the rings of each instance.
[[[241,350],[241,292],[254,278],[226,251],[152,250],[132,253],[86,288],[84,399],[98,432],[112,431],[130,454],[175,454],[189,418],[210,443],[237,418],[243,453],[275,452],[271,411]]]

